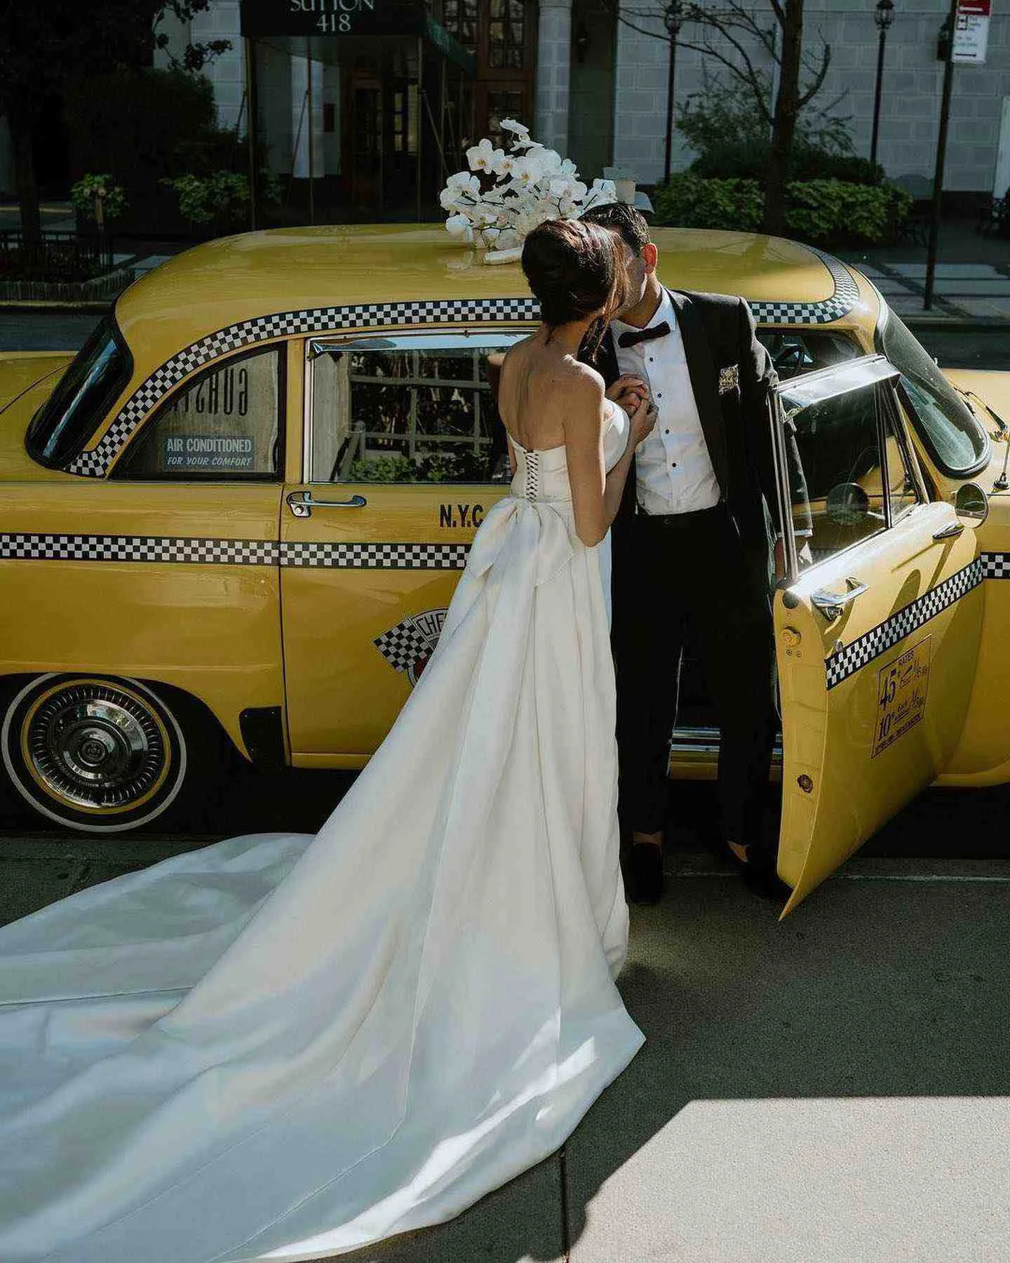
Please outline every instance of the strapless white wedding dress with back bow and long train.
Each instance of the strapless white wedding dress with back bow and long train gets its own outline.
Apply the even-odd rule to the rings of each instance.
[[[609,467],[627,429],[614,407]],[[0,930],[3,1263],[318,1259],[439,1223],[638,1051],[601,549],[564,450],[516,458],[314,837],[230,839]]]

